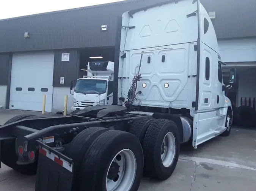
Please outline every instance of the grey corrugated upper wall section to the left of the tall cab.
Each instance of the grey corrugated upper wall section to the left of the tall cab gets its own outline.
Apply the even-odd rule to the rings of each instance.
[[[2,20],[0,52],[114,46],[117,15],[147,5],[145,2],[141,0]],[[101,25],[108,25],[108,30],[101,31]],[[24,37],[24,32],[30,33],[29,39]]]

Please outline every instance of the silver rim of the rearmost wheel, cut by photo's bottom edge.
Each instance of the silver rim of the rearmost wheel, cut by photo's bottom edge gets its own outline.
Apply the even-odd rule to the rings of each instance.
[[[113,171],[113,168],[115,170]],[[112,159],[106,177],[107,191],[129,191],[137,171],[136,158],[129,149],[124,149]]]

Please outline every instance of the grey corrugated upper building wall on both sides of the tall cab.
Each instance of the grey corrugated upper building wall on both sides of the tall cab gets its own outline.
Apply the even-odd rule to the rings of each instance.
[[[123,12],[166,0],[138,0],[0,20],[0,52],[114,46],[116,18]],[[192,0],[191,0],[192,1]],[[201,0],[218,38],[256,36],[255,0]],[[101,25],[108,25],[102,32]],[[24,37],[30,33],[30,38]]]

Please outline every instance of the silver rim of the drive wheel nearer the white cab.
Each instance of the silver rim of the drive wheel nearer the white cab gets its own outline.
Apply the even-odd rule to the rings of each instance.
[[[176,154],[176,139],[172,132],[168,132],[162,142],[161,159],[166,168],[173,164]]]

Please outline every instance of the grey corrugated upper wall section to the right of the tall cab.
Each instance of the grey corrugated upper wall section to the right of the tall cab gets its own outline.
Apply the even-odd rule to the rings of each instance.
[[[200,0],[212,20],[218,39],[256,36],[255,0]]]

